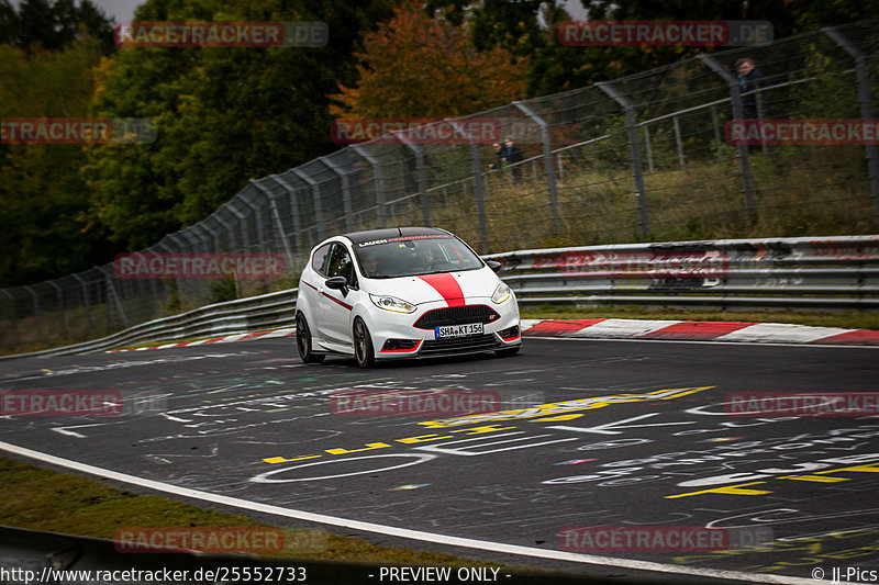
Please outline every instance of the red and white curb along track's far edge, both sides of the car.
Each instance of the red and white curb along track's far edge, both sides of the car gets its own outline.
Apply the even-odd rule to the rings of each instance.
[[[198,341],[165,344],[119,351],[145,351],[173,347],[252,341],[296,335],[296,327],[249,334],[233,334]],[[576,337],[581,339],[669,339],[678,341],[739,341],[745,344],[814,344],[841,346],[879,346],[879,331],[810,327],[780,323],[725,320],[649,320],[649,319],[522,319],[525,337]]]

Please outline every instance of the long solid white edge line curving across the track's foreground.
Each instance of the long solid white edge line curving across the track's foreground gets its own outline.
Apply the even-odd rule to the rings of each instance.
[[[713,569],[696,569],[689,566],[679,566],[664,563],[655,563],[649,561],[636,561],[633,559],[616,559],[613,556],[599,556],[594,554],[582,554],[577,552],[566,552],[556,550],[535,549],[532,547],[522,547],[519,544],[505,544],[503,542],[493,542],[490,540],[477,540],[463,537],[452,537],[447,535],[438,535],[435,532],[424,532],[422,530],[411,530],[408,528],[397,528],[393,526],[385,526],[374,522],[364,522],[360,520],[351,520],[347,518],[340,518],[337,516],[326,516],[323,514],[314,514],[311,511],[296,510],[291,508],[282,508],[280,506],[272,506],[270,504],[262,504],[258,502],[251,502],[238,497],[223,496],[220,494],[211,494],[210,492],[202,492],[200,490],[190,490],[188,487],[180,487],[177,485],[157,482],[154,480],[146,480],[137,477],[136,475],[129,475],[118,471],[111,471],[78,461],[71,461],[41,451],[34,451],[25,447],[19,447],[8,442],[0,441],[0,450],[18,455],[35,459],[44,463],[57,465],[90,475],[98,475],[108,480],[123,482],[127,484],[138,485],[148,490],[174,494],[177,496],[189,497],[193,499],[201,499],[211,502],[222,506],[230,506],[234,508],[242,508],[262,514],[270,514],[274,516],[282,516],[286,518],[294,518],[297,520],[305,520],[310,522],[319,522],[330,526],[340,526],[351,528],[354,530],[363,530],[366,532],[377,532],[390,537],[408,538],[412,540],[421,540],[424,542],[435,542],[438,544],[447,544],[452,547],[461,547],[466,549],[477,549],[491,552],[500,552],[504,554],[515,554],[522,556],[536,556],[539,559],[552,559],[557,561],[569,561],[574,563],[598,564],[603,566],[616,566],[621,569],[628,569],[633,571],[654,571],[658,573],[671,573],[678,575],[692,575],[708,578],[722,578],[722,580],[736,580],[738,582],[747,583],[780,583],[787,585],[814,585],[815,581],[811,578],[793,577],[787,575],[766,575],[759,573],[743,573],[739,571],[720,571]]]

